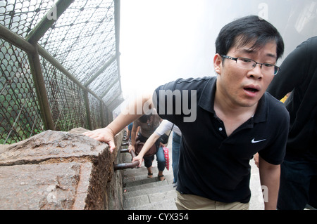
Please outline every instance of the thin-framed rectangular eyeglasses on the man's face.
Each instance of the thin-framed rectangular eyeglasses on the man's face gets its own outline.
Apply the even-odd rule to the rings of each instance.
[[[265,74],[265,75],[275,75],[275,74],[278,74],[278,72],[280,71],[280,67],[278,66],[271,65],[268,63],[259,63],[249,58],[232,58],[226,55],[221,55],[221,57],[227,58],[230,60],[235,60],[235,62],[237,62],[237,67],[243,68],[248,71],[253,70],[254,67],[256,67],[256,65],[258,64],[261,65],[262,74]]]

